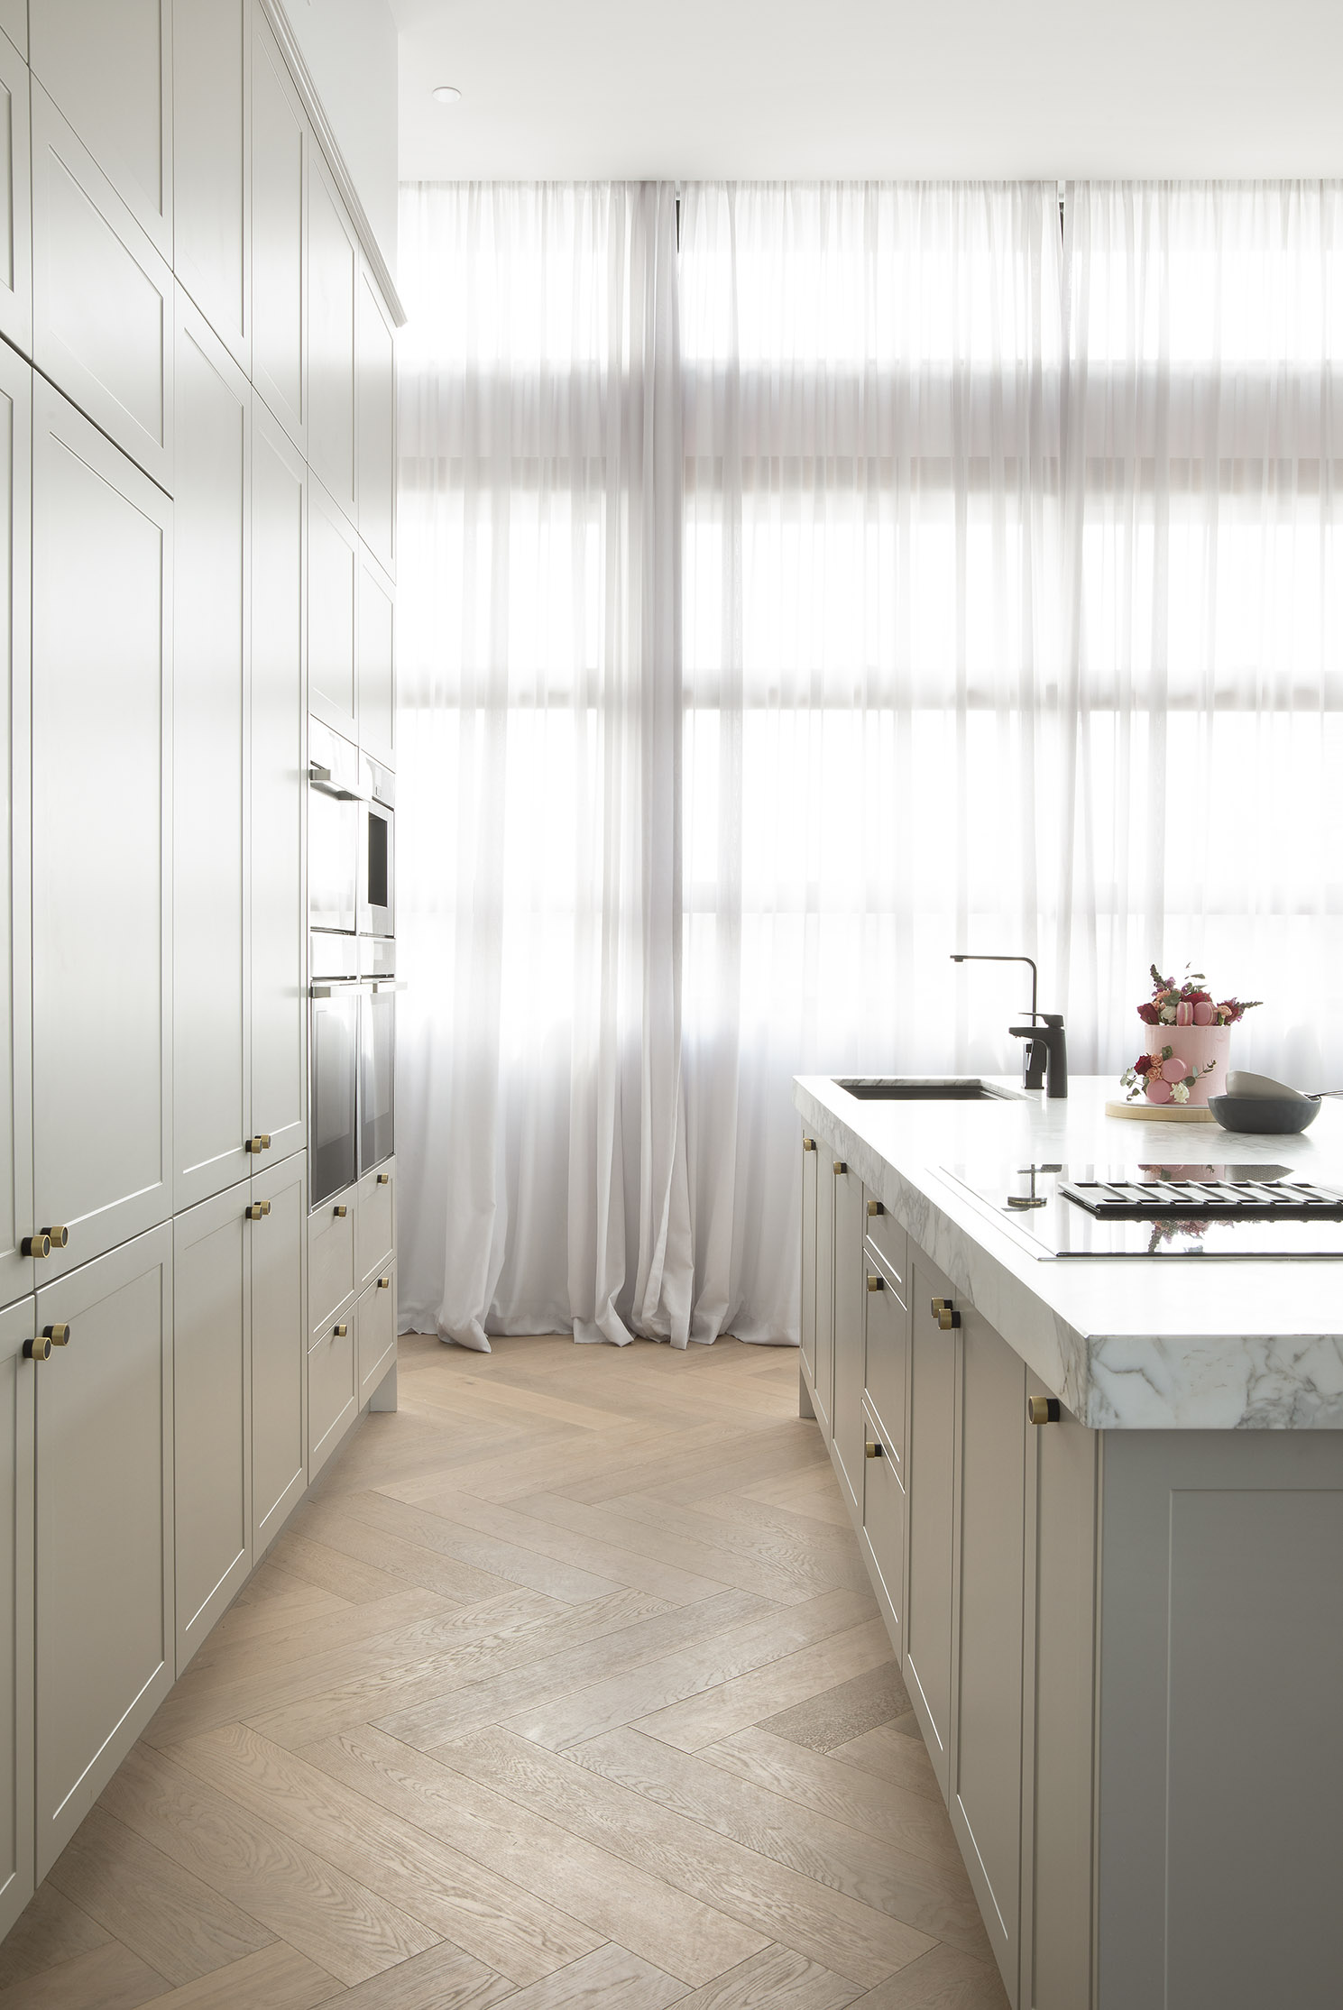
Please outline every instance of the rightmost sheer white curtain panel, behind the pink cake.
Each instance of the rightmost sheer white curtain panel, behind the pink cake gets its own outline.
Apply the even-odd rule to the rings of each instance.
[[[1192,959],[1267,1001],[1240,1063],[1337,1087],[1343,189],[1084,185],[1066,213],[1070,1041],[1128,1059],[1148,963]]]

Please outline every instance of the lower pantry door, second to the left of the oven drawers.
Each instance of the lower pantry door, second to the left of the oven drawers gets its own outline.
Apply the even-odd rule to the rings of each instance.
[[[251,1570],[247,1182],[173,1222],[177,1674]]]

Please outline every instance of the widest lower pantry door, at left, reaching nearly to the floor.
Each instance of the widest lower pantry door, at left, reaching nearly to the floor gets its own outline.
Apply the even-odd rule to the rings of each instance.
[[[36,1298],[36,1875],[173,1684],[173,1230]]]

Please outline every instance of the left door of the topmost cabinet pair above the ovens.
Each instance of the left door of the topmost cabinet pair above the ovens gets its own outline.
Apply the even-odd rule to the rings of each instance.
[[[360,247],[316,147],[308,159],[308,460],[354,523],[354,310]]]

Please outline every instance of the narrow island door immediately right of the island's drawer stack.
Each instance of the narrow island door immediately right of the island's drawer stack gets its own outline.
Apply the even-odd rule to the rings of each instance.
[[[957,1435],[957,1335],[929,1311],[951,1284],[913,1264],[909,1327],[909,1596],[905,1672],[937,1785],[951,1799],[951,1612]]]

